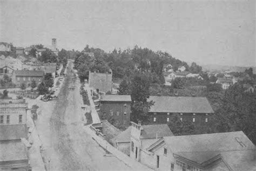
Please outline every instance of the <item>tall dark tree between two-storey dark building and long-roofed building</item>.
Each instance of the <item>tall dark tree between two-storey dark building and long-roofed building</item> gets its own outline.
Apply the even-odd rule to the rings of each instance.
[[[131,81],[131,120],[138,120],[147,124],[149,122],[149,110],[153,105],[153,101],[148,101],[149,80],[143,74],[137,74]]]

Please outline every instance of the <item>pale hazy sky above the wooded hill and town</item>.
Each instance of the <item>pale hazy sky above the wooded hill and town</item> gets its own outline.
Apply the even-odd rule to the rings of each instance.
[[[198,64],[256,66],[255,1],[5,1],[0,42],[106,52],[134,45]]]

